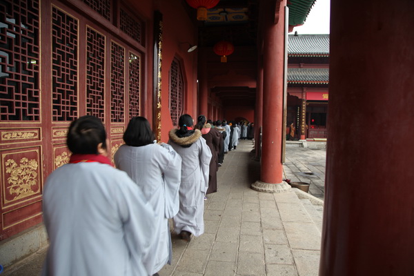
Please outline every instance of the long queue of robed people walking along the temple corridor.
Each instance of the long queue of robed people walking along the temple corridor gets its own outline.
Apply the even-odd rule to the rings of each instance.
[[[185,114],[168,144],[155,143],[148,120],[134,117],[114,168],[101,121],[72,121],[69,164],[49,175],[43,193],[50,246],[42,275],[158,275],[172,260],[168,219],[187,242],[204,233],[204,200],[217,192],[217,170],[239,133],[204,115],[193,126]]]

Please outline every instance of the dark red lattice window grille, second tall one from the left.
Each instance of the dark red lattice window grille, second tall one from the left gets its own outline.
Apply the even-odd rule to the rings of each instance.
[[[52,117],[77,118],[78,21],[52,8]]]

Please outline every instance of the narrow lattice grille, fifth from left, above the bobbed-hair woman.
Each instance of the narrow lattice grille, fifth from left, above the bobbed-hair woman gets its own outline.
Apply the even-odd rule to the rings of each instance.
[[[140,66],[141,66],[141,57],[138,55],[129,54],[129,119],[132,117],[139,116],[139,95],[141,92],[141,79],[140,79]]]

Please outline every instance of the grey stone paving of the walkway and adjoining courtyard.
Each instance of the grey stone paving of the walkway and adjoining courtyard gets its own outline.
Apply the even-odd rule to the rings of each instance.
[[[173,234],[172,265],[164,266],[159,275],[317,275],[322,216],[313,218],[308,209],[312,204],[303,204],[293,191],[269,194],[250,189],[259,179],[252,148],[252,141],[241,141],[237,150],[228,152],[218,172],[218,192],[205,201],[205,233],[189,243]],[[286,178],[311,180],[311,193],[323,197],[324,152],[287,148]],[[43,257],[44,251],[37,253],[5,275],[39,275]]]

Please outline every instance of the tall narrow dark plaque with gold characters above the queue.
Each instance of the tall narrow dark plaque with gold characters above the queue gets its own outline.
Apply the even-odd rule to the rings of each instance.
[[[154,133],[161,141],[161,62],[162,62],[162,14],[154,14]]]

